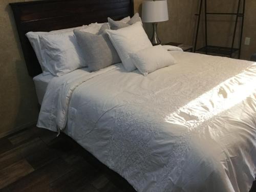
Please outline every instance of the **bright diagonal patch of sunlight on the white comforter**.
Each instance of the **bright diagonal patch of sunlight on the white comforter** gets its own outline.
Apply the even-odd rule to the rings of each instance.
[[[256,65],[245,70],[215,88],[190,101],[172,114],[165,122],[193,129],[204,121],[241,103],[248,97],[256,97]]]

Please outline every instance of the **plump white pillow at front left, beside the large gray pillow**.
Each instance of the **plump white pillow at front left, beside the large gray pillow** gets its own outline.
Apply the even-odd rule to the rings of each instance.
[[[39,35],[45,70],[61,76],[86,67],[73,31]]]

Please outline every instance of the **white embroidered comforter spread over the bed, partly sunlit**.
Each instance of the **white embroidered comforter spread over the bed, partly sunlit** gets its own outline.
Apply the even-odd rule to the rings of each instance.
[[[65,131],[137,191],[249,191],[256,63],[172,55],[146,77],[116,65],[53,78],[37,126]]]

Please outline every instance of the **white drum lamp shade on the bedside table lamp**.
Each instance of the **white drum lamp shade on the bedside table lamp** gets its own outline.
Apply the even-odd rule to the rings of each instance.
[[[154,23],[169,20],[167,1],[144,1],[142,4],[142,22]]]

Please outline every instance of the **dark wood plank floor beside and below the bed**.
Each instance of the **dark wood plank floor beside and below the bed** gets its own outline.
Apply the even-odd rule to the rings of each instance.
[[[37,127],[0,139],[0,192],[11,191],[136,192],[65,134]]]

